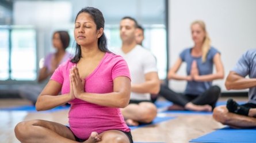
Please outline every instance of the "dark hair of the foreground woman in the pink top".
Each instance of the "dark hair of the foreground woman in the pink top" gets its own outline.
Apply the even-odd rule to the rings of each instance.
[[[88,13],[90,14],[91,18],[93,18],[93,21],[95,22],[96,26],[97,26],[97,30],[100,28],[104,29],[104,24],[105,24],[105,20],[103,17],[103,14],[101,13],[100,10],[94,8],[94,7],[85,7],[82,10],[80,10],[77,14],[77,17],[79,14],[81,13]],[[77,17],[75,18],[75,21],[77,21]],[[107,40],[106,40],[106,36],[103,33],[102,36],[100,38],[98,38],[98,48],[100,49],[100,51],[102,52],[110,52],[108,47],[107,47]],[[78,45],[76,43],[75,46],[75,56],[73,57],[73,59],[71,59],[72,63],[77,63],[80,58],[81,58],[81,46]]]

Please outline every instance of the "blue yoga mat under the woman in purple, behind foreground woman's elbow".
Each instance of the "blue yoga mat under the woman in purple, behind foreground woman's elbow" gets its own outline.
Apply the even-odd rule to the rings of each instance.
[[[54,109],[46,110],[47,112],[59,111],[59,110],[68,110],[70,106],[58,106]],[[28,112],[36,112],[36,107],[33,105],[25,105],[25,106],[16,106],[16,107],[7,107],[1,108],[0,111],[28,111]]]

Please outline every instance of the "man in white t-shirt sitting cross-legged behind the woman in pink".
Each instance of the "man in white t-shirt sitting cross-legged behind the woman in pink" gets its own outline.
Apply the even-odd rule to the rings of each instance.
[[[136,20],[124,17],[120,22],[122,47],[114,52],[124,57],[131,74],[131,99],[129,105],[121,109],[130,126],[152,122],[157,110],[151,102],[150,94],[157,94],[160,89],[156,59],[150,51],[137,45],[136,30]]]

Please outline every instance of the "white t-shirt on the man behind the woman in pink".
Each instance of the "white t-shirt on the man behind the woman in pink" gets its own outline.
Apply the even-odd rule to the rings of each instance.
[[[154,55],[140,45],[136,45],[132,51],[124,53],[122,49],[116,49],[113,53],[124,57],[127,61],[131,74],[132,84],[144,83],[145,74],[148,72],[157,72],[156,59]],[[150,93],[131,92],[132,100],[148,100],[150,101]]]

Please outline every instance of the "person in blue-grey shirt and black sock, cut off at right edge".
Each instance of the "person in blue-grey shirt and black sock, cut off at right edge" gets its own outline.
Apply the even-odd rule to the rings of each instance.
[[[256,127],[256,49],[245,52],[228,74],[225,86],[227,90],[249,88],[249,102],[239,105],[234,99],[228,99],[226,106],[213,110],[213,118],[224,125],[235,128]],[[246,78],[246,76],[249,78]]]

